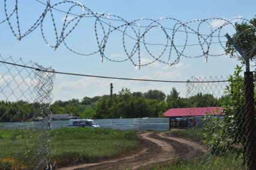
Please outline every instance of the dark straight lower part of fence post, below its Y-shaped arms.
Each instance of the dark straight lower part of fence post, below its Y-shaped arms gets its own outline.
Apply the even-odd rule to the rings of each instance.
[[[256,170],[256,119],[254,102],[254,79],[253,72],[245,72],[245,110],[247,124],[247,151],[248,169]]]

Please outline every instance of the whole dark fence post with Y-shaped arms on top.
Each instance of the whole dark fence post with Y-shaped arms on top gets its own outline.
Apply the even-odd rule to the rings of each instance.
[[[256,44],[249,53],[246,55],[240,49],[240,47],[236,44],[235,41],[230,37],[230,35],[226,34],[228,41],[232,44],[232,46],[240,53],[240,55],[245,59],[245,112],[246,112],[246,127],[247,127],[247,150],[246,156],[248,159],[248,169],[256,170],[256,119],[255,119],[255,102],[254,102],[254,78],[253,72],[250,71],[250,61],[249,59],[252,57],[254,51],[256,50]]]

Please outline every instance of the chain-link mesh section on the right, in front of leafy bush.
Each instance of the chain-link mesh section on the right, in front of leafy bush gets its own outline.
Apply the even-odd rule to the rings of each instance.
[[[187,82],[190,107],[198,103],[204,107],[187,109],[192,129],[189,133],[193,136],[198,131],[201,141],[207,145],[207,151],[201,150],[199,159],[189,169],[255,169],[255,90],[252,93],[255,81],[250,83],[241,72],[237,70],[228,81],[224,77],[192,77]],[[206,115],[197,115],[200,112]],[[194,130],[198,118],[204,125]]]

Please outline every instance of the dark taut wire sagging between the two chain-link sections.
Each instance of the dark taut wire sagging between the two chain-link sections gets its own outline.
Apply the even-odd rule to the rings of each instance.
[[[55,73],[55,74],[66,74],[66,75],[72,75],[72,76],[84,76],[84,77],[96,77],[96,78],[102,78],[102,79],[118,79],[118,80],[135,80],[135,81],[147,81],[147,82],[166,82],[166,83],[209,83],[209,82],[228,82],[228,80],[213,80],[213,81],[176,81],[176,80],[154,80],[154,79],[132,79],[132,78],[126,78],[126,77],[109,77],[109,76],[97,76],[97,75],[90,75],[90,74],[79,74],[79,73],[67,73],[67,72],[61,72],[61,71],[55,71],[55,70],[43,70],[41,68],[36,67],[29,67],[27,65],[21,65],[6,61],[0,61],[4,64],[10,64],[10,65],[16,65],[18,67],[24,67],[24,68],[31,68],[36,71],[43,71],[47,73]]]

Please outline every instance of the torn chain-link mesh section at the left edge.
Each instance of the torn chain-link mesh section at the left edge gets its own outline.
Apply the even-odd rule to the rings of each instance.
[[[55,74],[33,69],[52,71],[32,61],[0,58],[31,67],[0,64],[1,168],[44,169],[50,158],[49,104]],[[13,127],[7,129],[10,123]]]

